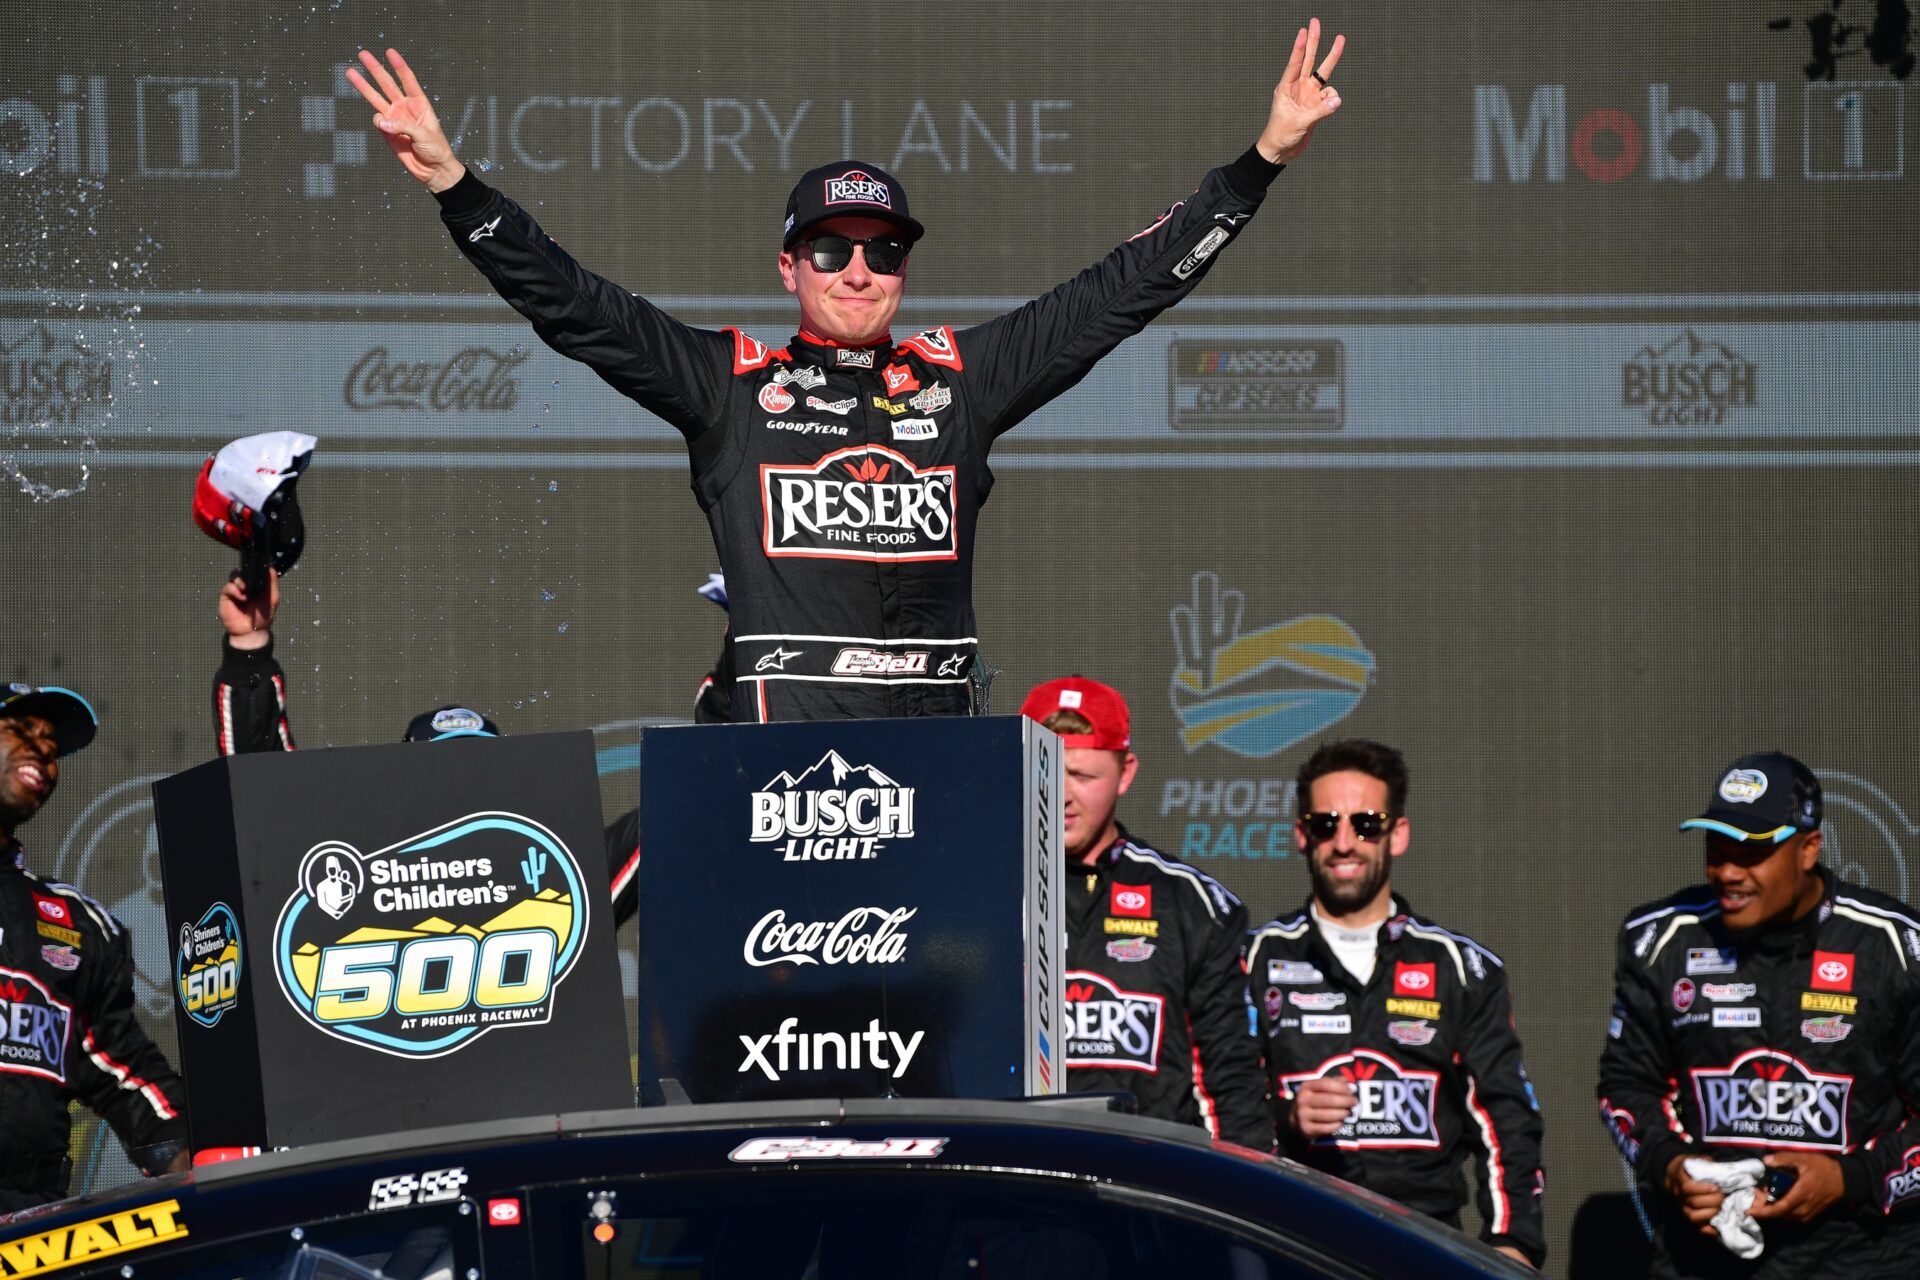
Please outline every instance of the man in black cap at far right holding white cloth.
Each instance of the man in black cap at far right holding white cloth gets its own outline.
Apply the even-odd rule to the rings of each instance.
[[[1820,779],[1741,756],[1707,812],[1707,883],[1626,913],[1599,1111],[1655,1209],[1655,1276],[1920,1272],[1920,917],[1820,865]],[[1755,1261],[1688,1157],[1761,1157]]]

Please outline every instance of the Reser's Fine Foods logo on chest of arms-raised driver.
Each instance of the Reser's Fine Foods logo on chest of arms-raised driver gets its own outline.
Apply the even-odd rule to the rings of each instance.
[[[768,557],[954,560],[954,468],[916,468],[881,445],[814,462],[760,466],[760,541]]]

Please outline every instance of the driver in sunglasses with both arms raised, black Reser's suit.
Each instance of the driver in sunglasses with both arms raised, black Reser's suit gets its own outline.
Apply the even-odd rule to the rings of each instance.
[[[987,451],[1200,284],[1267,184],[1334,113],[1344,38],[1294,38],[1244,155],[1054,292],[973,328],[897,338],[924,228],[877,165],[806,173],[780,280],[778,349],[691,328],[586,271],[455,155],[407,61],[348,79],[459,249],[555,351],[678,428],[732,597],[733,720],[943,716],[975,708],[973,533]]]

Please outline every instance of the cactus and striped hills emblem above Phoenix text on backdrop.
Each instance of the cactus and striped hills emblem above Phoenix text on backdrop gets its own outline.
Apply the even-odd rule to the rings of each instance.
[[[1352,712],[1373,679],[1373,654],[1327,614],[1240,631],[1246,597],[1194,574],[1192,601],[1169,610],[1169,695],[1187,750],[1219,747],[1263,760]]]

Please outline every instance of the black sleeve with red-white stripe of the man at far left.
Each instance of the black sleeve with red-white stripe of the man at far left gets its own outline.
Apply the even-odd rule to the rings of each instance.
[[[132,935],[104,908],[100,958],[92,963],[81,1017],[73,1092],[113,1126],[127,1155],[146,1173],[165,1173],[186,1150],[186,1090],[132,1011]],[[102,963],[104,961],[104,963]]]

